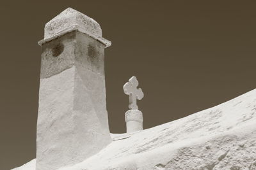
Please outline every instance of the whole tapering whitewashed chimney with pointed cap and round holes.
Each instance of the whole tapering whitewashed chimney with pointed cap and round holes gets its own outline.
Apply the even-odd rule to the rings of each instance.
[[[100,25],[67,8],[45,25],[40,73],[36,170],[85,160],[111,143]]]

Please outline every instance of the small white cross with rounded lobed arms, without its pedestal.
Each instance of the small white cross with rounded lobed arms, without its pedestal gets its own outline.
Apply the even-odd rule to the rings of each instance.
[[[142,90],[137,89],[139,82],[136,76],[132,76],[129,82],[124,85],[124,93],[129,95],[129,109],[138,110],[137,99],[141,100],[144,97]]]

